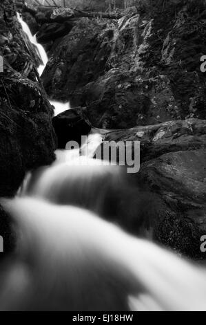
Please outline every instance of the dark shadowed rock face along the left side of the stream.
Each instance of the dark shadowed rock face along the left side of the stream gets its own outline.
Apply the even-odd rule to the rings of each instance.
[[[0,4],[0,55],[0,196],[13,196],[27,171],[52,163],[56,136],[53,109],[37,73],[41,60],[21,30],[10,0]],[[4,230],[0,227],[0,235],[8,233],[5,229],[6,225]]]

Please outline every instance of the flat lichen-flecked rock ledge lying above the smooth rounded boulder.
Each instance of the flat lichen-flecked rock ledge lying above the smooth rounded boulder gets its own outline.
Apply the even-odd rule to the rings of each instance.
[[[141,163],[144,163],[169,152],[205,149],[206,120],[178,120],[111,131],[105,141],[140,141]]]

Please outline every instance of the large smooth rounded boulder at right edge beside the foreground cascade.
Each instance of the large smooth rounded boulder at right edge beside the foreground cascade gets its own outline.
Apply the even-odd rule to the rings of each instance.
[[[141,166],[140,177],[159,195],[154,233],[158,242],[188,257],[204,258],[206,231],[206,150],[177,151]]]

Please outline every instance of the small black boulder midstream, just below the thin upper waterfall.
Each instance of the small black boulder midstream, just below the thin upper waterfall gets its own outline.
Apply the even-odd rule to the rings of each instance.
[[[76,141],[81,145],[81,136],[87,136],[92,127],[85,120],[83,112],[78,109],[70,109],[52,120],[58,139],[58,148],[65,149],[69,141]]]

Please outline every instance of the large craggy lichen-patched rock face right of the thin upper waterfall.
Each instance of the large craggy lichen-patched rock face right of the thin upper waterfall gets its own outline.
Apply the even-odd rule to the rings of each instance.
[[[92,124],[105,129],[205,118],[205,7],[194,2],[154,2],[144,13],[136,6],[119,21],[80,19],[54,45],[46,91],[87,106]]]

